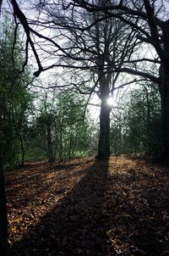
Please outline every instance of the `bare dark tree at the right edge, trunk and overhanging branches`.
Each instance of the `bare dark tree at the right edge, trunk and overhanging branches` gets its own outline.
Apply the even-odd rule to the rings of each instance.
[[[137,31],[140,42],[154,47],[156,58],[137,58],[129,61],[121,67],[121,72],[143,76],[158,84],[161,93],[162,115],[162,148],[161,159],[169,160],[169,10],[168,3],[150,0],[121,0],[114,1],[112,6],[99,6],[97,3],[74,0],[71,3],[63,3],[67,8],[85,8],[90,13],[102,11],[106,16],[116,17]],[[132,18],[132,19],[131,19]],[[99,20],[97,20],[99,22]],[[90,28],[92,23],[88,26]],[[159,74],[140,70],[138,64],[160,65]],[[132,65],[133,64],[133,65]],[[118,68],[117,68],[118,69]],[[116,70],[116,68],[115,68]],[[118,69],[119,70],[119,69]]]

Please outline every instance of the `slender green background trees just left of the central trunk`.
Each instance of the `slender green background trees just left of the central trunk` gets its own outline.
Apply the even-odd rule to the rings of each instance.
[[[32,154],[37,151],[49,162],[90,154],[94,125],[85,108],[85,97],[74,92],[46,93],[30,125],[31,142],[26,142]]]

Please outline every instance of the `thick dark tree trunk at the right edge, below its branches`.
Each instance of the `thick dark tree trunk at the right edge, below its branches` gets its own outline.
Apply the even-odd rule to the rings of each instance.
[[[161,66],[162,160],[169,163],[169,61]]]

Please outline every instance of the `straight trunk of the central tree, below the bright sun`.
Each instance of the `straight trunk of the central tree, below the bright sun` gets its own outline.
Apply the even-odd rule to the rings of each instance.
[[[108,159],[110,156],[110,107],[106,100],[101,101],[100,135],[98,159]]]

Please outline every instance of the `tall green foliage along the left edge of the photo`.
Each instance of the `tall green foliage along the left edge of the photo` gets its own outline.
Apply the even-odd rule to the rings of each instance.
[[[21,161],[19,155],[22,133],[32,100],[26,88],[30,75],[28,70],[19,75],[24,57],[18,34],[14,45],[13,21],[5,17],[0,31],[0,130],[3,164],[15,165]]]

